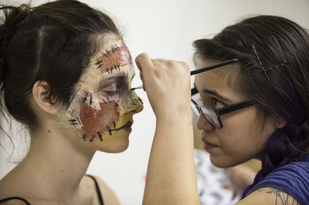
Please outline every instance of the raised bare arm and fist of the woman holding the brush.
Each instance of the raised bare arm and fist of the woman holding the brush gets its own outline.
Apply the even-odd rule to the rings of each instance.
[[[193,153],[190,69],[184,62],[136,58],[156,115],[143,204],[200,204]]]

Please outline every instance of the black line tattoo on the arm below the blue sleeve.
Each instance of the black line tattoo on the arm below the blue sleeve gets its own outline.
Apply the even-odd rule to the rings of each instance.
[[[275,194],[276,195],[276,205],[300,205],[293,196],[289,195],[285,191],[274,188],[274,187],[262,187],[257,191],[268,193],[268,194]]]

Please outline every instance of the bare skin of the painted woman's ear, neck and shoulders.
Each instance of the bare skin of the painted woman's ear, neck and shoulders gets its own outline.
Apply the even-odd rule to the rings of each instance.
[[[40,130],[30,133],[31,148],[26,158],[1,180],[0,198],[10,197],[14,193],[14,196],[25,198],[31,204],[97,205],[95,185],[92,179],[85,176],[95,149],[80,144],[81,139],[68,139],[63,131],[54,126],[57,109],[44,96],[47,89],[42,84],[34,86],[32,102],[44,123]],[[97,179],[102,193],[107,193],[104,201],[119,204],[108,186]],[[11,200],[3,204],[18,205],[24,202]]]

